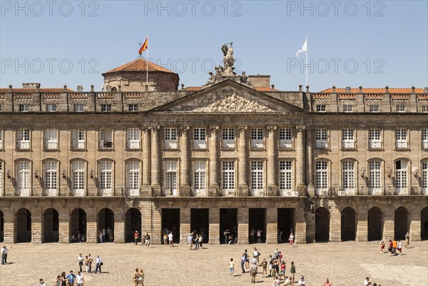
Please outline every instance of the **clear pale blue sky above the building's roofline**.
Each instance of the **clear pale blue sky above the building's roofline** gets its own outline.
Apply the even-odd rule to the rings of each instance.
[[[148,56],[185,86],[208,80],[222,44],[275,88],[428,86],[428,1],[0,1],[0,86],[70,88]],[[146,53],[144,53],[146,56]]]

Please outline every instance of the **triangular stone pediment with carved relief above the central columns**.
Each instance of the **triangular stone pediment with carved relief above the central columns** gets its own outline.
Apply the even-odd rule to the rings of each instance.
[[[302,108],[234,81],[190,93],[152,111],[190,113],[296,113]]]

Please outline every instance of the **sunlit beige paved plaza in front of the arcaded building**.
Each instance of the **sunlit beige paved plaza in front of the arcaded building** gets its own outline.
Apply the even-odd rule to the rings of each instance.
[[[7,245],[10,247],[11,245]],[[77,257],[91,253],[103,258],[103,273],[85,275],[86,286],[132,285],[136,267],[146,272],[145,285],[250,285],[250,274],[241,274],[240,256],[245,248],[258,247],[261,257],[268,257],[276,247],[284,254],[287,274],[290,261],[296,276],[305,275],[307,286],[322,285],[329,277],[334,286],[360,286],[366,276],[382,286],[428,285],[428,241],[412,242],[404,255],[389,257],[380,253],[377,242],[328,242],[295,245],[205,245],[189,251],[187,245],[173,248],[127,244],[16,244],[9,251],[8,265],[0,265],[1,286],[37,286],[39,277],[54,285],[62,271],[78,270]],[[235,277],[230,277],[228,261],[236,263]],[[95,267],[93,267],[94,269]],[[263,278],[261,267],[257,285],[272,285]],[[297,285],[297,282],[295,283]]]

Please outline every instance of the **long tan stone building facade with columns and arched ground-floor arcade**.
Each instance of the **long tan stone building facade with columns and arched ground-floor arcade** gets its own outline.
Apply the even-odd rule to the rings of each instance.
[[[0,241],[428,239],[428,88],[122,88],[0,89]]]

